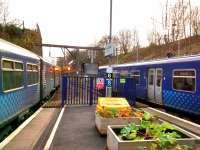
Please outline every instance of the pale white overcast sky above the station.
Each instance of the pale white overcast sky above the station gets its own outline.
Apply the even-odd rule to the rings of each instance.
[[[191,1],[196,4],[199,0]],[[165,2],[113,0],[113,34],[136,28],[141,45],[148,45],[152,18],[158,25],[162,22]],[[27,28],[39,24],[43,43],[88,46],[109,34],[110,0],[9,0],[8,7],[10,19],[23,20]],[[44,49],[46,57],[49,50],[53,51]],[[55,51],[53,56],[60,55]]]

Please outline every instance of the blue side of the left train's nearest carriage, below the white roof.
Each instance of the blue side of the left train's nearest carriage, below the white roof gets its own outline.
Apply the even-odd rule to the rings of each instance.
[[[22,57],[8,52],[0,52],[0,59],[1,59],[0,126],[2,126],[4,123],[13,119],[15,116],[27,110],[29,107],[33,106],[40,100],[40,86],[39,86],[39,70],[37,77],[34,76],[35,78],[38,79],[38,81],[37,83],[35,82],[34,84],[31,83],[28,84],[27,81],[30,79],[30,77],[28,75],[28,72],[26,71],[28,63],[38,65],[39,69],[39,60]],[[21,63],[23,63],[23,71],[22,71],[23,83],[22,86],[20,86],[19,88],[5,90],[5,86],[7,86],[6,84],[9,85],[14,84],[18,82],[17,79],[19,78],[18,73],[16,74],[10,72],[6,73],[6,70],[2,69],[3,60],[5,59],[9,59],[10,62],[20,61]],[[6,88],[8,89],[8,87]]]

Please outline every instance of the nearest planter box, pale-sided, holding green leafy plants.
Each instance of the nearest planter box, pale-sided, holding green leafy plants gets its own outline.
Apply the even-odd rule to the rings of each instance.
[[[107,148],[109,150],[139,150],[141,147],[147,147],[150,149],[151,143],[155,140],[135,140],[135,141],[124,141],[121,140],[115,133],[114,130],[119,130],[124,126],[113,125],[108,126],[107,130]],[[200,147],[200,138],[188,131],[185,131],[176,126],[176,129],[187,136],[187,138],[177,139],[179,144],[185,144],[191,146],[192,149]]]

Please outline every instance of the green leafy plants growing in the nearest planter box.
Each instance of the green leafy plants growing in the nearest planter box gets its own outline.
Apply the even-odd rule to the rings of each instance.
[[[190,150],[187,145],[177,144],[176,140],[182,137],[182,134],[176,128],[167,122],[161,124],[152,123],[152,115],[144,113],[140,126],[135,123],[129,123],[121,129],[118,135],[122,140],[155,140],[151,144],[151,150]],[[146,147],[141,147],[146,149]]]

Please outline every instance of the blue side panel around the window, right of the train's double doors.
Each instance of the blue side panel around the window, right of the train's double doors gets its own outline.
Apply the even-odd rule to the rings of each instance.
[[[181,111],[200,115],[200,62],[173,63],[164,65],[163,104]],[[174,70],[194,70],[196,72],[195,91],[181,91],[173,88]]]

